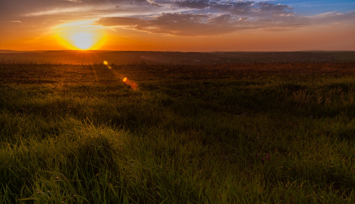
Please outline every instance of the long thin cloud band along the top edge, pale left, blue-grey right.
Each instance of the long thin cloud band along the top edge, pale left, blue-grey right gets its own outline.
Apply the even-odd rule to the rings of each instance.
[[[42,2],[42,0],[37,0]],[[228,13],[239,16],[257,16],[257,17],[280,17],[294,15],[290,10],[292,7],[272,4],[270,2],[256,1],[221,1],[221,0],[62,0],[62,1],[43,2],[37,9],[31,12],[24,12],[25,16],[42,16],[53,14],[73,14],[88,17],[90,14],[94,16],[102,16],[107,14],[112,16],[113,13],[119,14],[120,10],[129,10],[132,16],[143,14],[161,14],[163,12],[198,12],[202,14]],[[61,3],[60,3],[61,2]],[[68,3],[66,3],[68,2]],[[76,6],[72,6],[69,2],[79,2]]]

